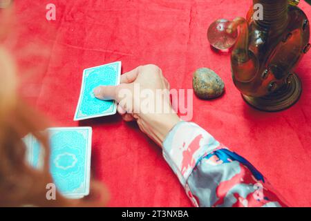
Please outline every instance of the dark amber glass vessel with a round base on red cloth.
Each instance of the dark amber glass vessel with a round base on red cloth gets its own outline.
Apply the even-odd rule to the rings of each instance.
[[[293,2],[253,0],[246,19],[237,17],[227,28],[239,27],[231,56],[234,84],[248,104],[262,111],[281,111],[301,95],[294,68],[310,49],[310,26]],[[258,3],[263,17],[257,16]]]

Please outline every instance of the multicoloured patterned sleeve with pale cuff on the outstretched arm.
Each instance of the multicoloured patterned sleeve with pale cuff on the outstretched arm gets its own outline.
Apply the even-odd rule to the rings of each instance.
[[[194,206],[287,206],[252,164],[197,124],[178,123],[163,156]]]

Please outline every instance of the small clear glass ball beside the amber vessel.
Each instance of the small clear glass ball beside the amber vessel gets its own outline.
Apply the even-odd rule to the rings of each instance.
[[[207,39],[211,46],[218,50],[225,50],[234,45],[238,37],[238,31],[236,30],[231,34],[227,33],[226,29],[229,23],[230,21],[227,19],[218,19],[211,23],[211,26],[207,30]]]

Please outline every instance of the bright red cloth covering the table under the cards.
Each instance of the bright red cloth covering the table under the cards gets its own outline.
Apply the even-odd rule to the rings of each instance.
[[[55,3],[56,21],[46,20]],[[123,73],[157,64],[171,88],[192,88],[192,73],[208,67],[225,81],[225,95],[194,96],[193,121],[246,157],[294,206],[311,206],[311,53],[296,72],[303,94],[280,113],[243,102],[229,55],[211,50],[206,32],[218,18],[244,16],[250,0],[15,1],[15,31],[6,44],[17,57],[21,93],[53,126],[92,126],[92,168],[111,193],[109,206],[191,206],[160,148],[120,116],[73,122],[84,68],[122,61]],[[311,7],[301,3],[311,17]],[[34,74],[36,73],[36,74]]]

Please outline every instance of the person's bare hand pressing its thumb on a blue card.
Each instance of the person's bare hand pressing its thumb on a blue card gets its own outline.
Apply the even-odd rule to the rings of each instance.
[[[139,66],[124,73],[120,81],[119,86],[100,86],[100,90],[95,90],[95,96],[102,100],[115,99],[122,118],[136,120],[140,129],[162,146],[171,128],[180,121],[171,105],[169,82],[163,77],[162,70],[153,64]],[[129,92],[131,99],[124,99],[121,90]],[[159,92],[161,96],[158,96]]]

